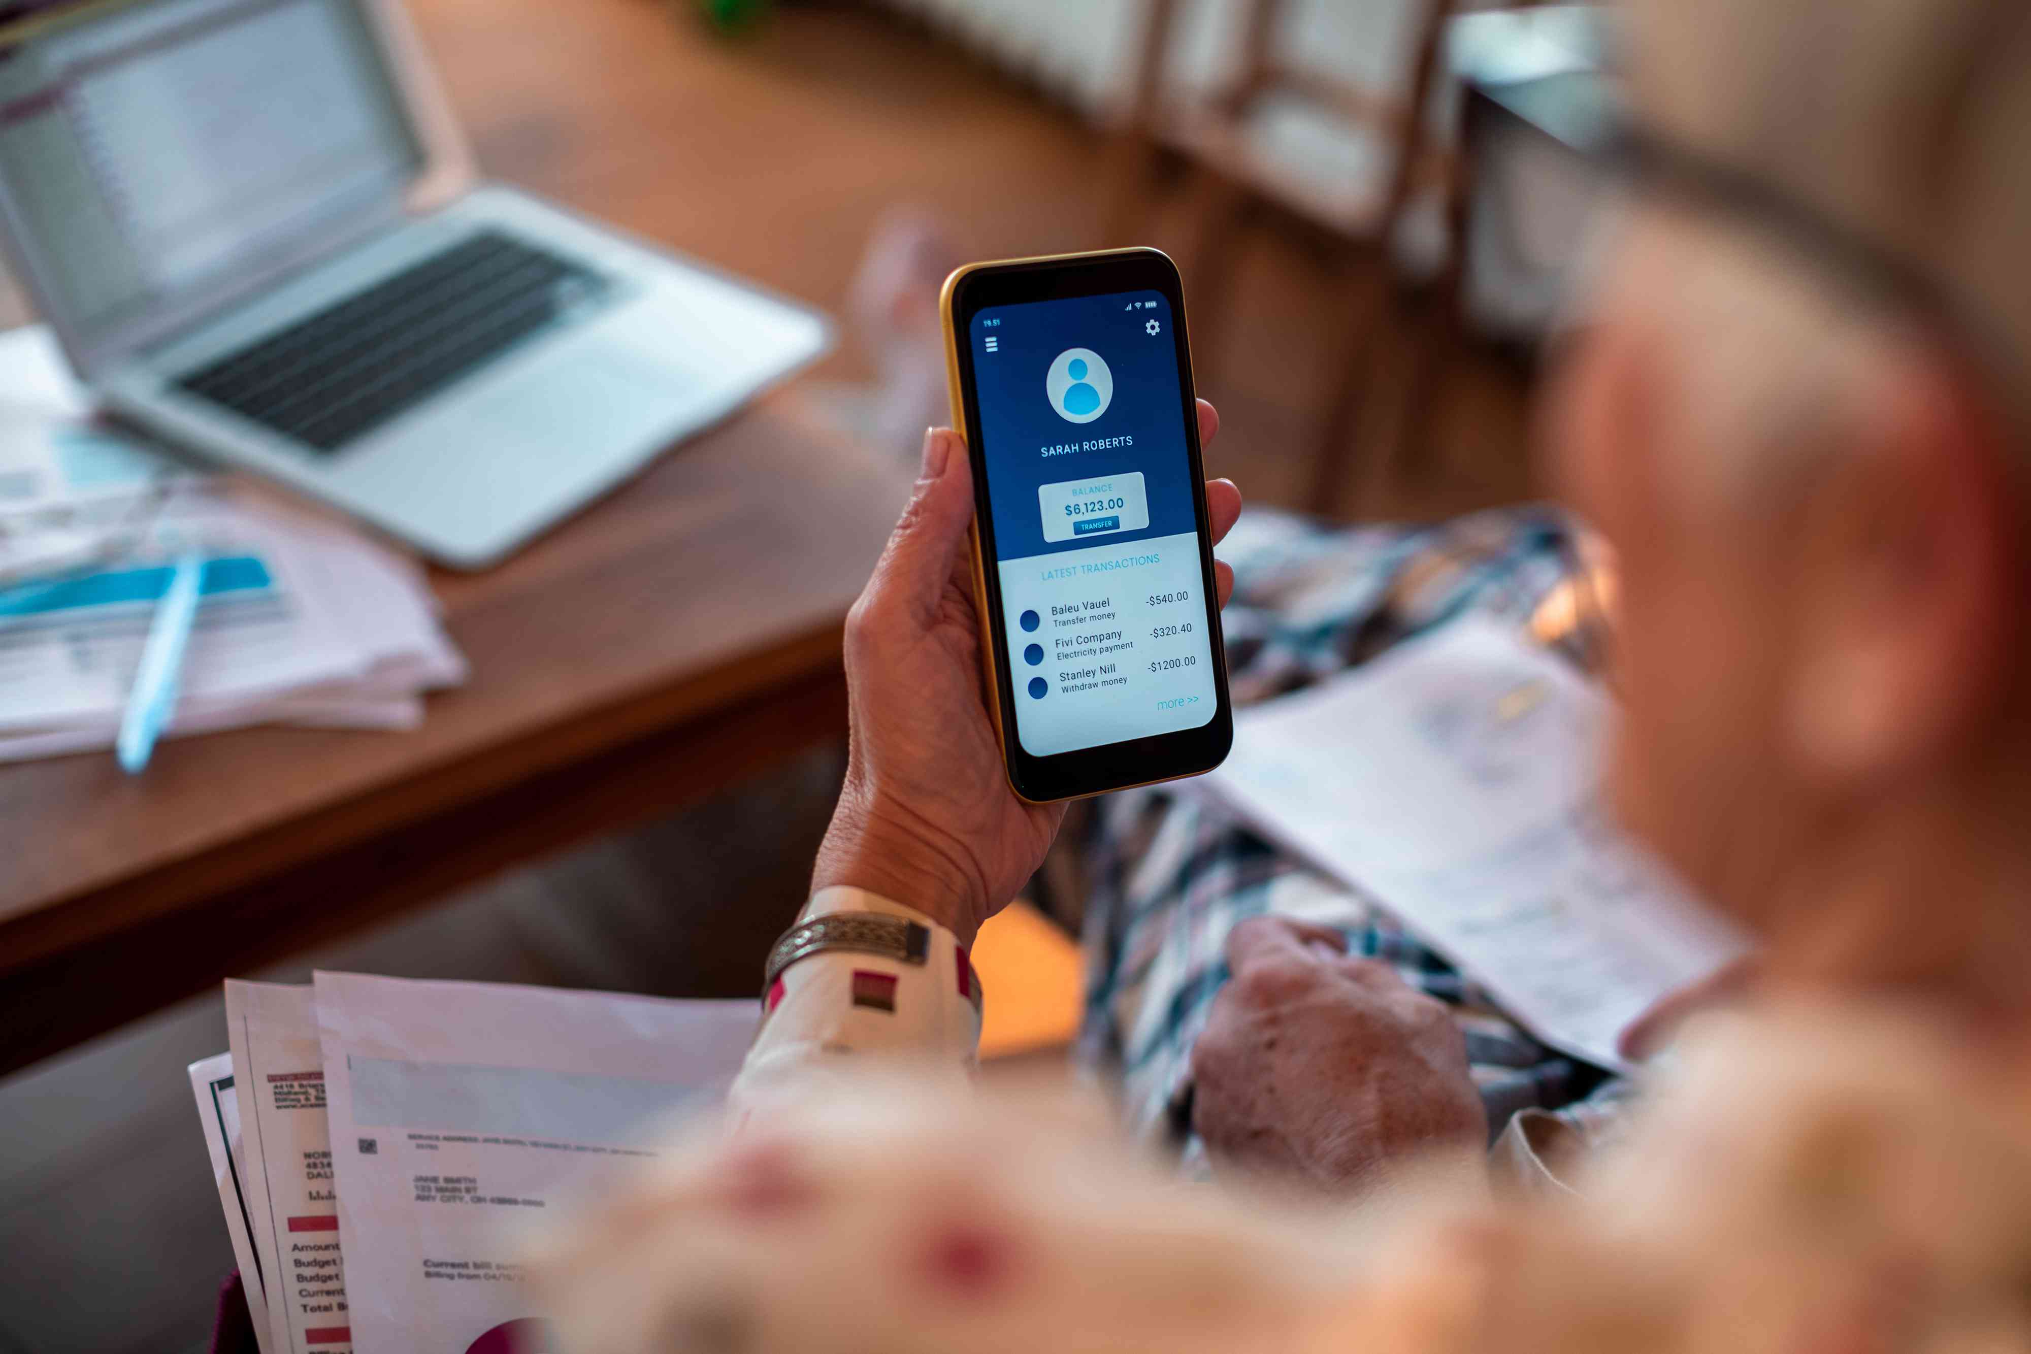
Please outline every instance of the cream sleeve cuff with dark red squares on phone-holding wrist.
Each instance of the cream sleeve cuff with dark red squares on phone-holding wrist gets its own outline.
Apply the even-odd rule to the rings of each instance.
[[[798,922],[879,911],[930,932],[922,964],[833,950],[790,964],[762,997],[762,1029],[727,1094],[735,1131],[786,1098],[841,1088],[869,1062],[912,1062],[971,1078],[979,1064],[979,976],[965,946],[914,907],[853,887],[821,889]]]

